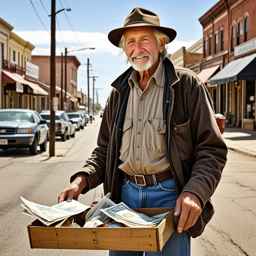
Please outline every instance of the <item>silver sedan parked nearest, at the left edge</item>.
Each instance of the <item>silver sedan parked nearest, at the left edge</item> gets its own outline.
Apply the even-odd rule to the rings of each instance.
[[[28,147],[30,154],[47,148],[46,120],[30,109],[0,109],[0,148]]]

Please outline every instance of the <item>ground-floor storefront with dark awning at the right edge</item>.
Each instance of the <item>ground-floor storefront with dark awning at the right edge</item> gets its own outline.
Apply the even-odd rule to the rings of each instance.
[[[230,61],[210,78],[210,84],[225,84],[221,104],[228,110],[232,126],[255,130],[256,53]]]

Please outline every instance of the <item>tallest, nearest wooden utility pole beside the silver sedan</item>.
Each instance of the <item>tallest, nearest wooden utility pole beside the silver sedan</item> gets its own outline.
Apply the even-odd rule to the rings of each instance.
[[[53,109],[53,97],[55,97],[55,0],[51,0],[51,19],[50,19],[50,138],[49,138],[49,156],[55,155],[55,111]]]

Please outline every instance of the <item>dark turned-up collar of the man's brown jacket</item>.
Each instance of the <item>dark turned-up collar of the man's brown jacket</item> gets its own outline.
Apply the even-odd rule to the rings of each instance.
[[[165,78],[167,79],[168,85],[171,87],[174,83],[179,81],[179,77],[175,71],[175,68],[172,62],[166,57],[163,60],[164,69],[165,69]],[[126,71],[124,71],[120,76],[118,76],[111,85],[121,93],[124,91],[127,86],[129,86],[128,79],[133,72],[133,67],[130,66]]]

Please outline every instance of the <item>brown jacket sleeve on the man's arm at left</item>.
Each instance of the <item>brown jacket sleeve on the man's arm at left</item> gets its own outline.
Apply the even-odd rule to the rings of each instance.
[[[113,90],[111,93],[112,92]],[[85,161],[81,169],[70,177],[70,182],[72,182],[80,173],[86,176],[88,180],[88,187],[82,190],[82,194],[86,193],[92,188],[95,188],[104,181],[107,147],[110,137],[110,123],[112,119],[112,107],[110,105],[110,102],[112,102],[110,99],[111,93],[106,101],[103,111],[97,138],[97,147],[92,151],[91,156]]]

